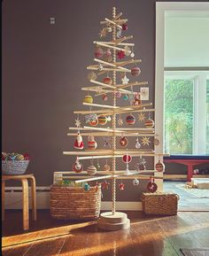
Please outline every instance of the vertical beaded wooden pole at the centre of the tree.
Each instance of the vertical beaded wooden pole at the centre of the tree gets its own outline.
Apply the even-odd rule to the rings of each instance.
[[[112,18],[115,19],[116,16],[116,8],[112,8]],[[116,26],[112,27],[112,40],[116,39]],[[112,61],[113,64],[116,62],[116,50],[112,50]],[[116,84],[116,71],[112,71],[112,85]],[[113,93],[113,106],[116,105],[116,97],[115,97],[115,89]],[[114,110],[113,110],[114,111]],[[112,129],[116,128],[116,115],[115,113],[112,115]],[[116,149],[116,136],[113,133],[112,136],[112,150],[115,151]],[[116,159],[112,158],[112,171],[113,173],[116,171]],[[116,200],[116,179],[112,178],[112,214],[115,213],[115,200]]]

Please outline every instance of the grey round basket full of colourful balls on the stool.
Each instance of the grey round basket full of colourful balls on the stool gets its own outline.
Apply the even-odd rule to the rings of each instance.
[[[27,170],[30,158],[27,153],[5,153],[2,152],[2,174],[3,175],[24,175]]]

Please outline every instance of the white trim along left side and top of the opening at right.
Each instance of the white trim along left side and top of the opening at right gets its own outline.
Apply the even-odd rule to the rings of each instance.
[[[157,153],[164,151],[164,37],[167,11],[205,12],[209,11],[209,3],[156,2],[155,130],[161,139],[161,143],[155,146]]]

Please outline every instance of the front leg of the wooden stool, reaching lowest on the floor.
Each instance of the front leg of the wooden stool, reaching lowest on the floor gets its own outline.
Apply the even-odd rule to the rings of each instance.
[[[23,211],[23,229],[29,229],[29,204],[28,204],[28,182],[22,179],[22,211]]]

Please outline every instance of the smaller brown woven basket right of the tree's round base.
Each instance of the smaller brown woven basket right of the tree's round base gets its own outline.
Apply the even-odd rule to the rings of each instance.
[[[176,215],[179,196],[174,193],[143,193],[143,213]]]

